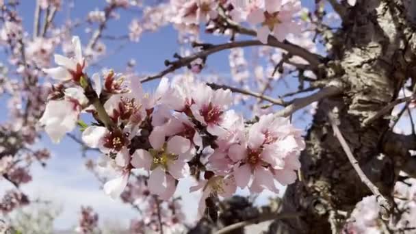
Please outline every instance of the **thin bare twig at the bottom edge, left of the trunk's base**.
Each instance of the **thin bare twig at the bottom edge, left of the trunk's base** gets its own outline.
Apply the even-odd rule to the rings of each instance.
[[[217,231],[215,234],[225,234],[230,233],[231,231],[234,231],[235,229],[240,229],[244,226],[248,226],[251,224],[258,224],[260,222],[266,222],[269,220],[283,220],[283,219],[291,219],[291,218],[298,218],[300,216],[300,213],[265,213],[261,215],[259,218],[255,218],[252,220],[237,222],[235,224],[231,224],[229,226],[226,226],[219,231]]]

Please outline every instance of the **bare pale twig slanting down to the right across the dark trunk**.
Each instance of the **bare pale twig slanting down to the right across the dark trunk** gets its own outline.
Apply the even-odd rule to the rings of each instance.
[[[354,155],[352,155],[352,151],[351,151],[350,146],[348,146],[348,143],[343,138],[343,135],[342,135],[341,131],[339,131],[339,128],[338,128],[338,125],[337,125],[337,120],[335,120],[335,118],[332,116],[332,114],[328,114],[328,118],[330,120],[330,125],[333,127],[334,134],[337,137],[339,143],[341,144],[341,146],[343,148],[343,151],[346,153],[346,155],[348,157],[348,160],[350,161],[350,164],[352,165],[352,167],[356,171],[356,174],[358,174],[361,181],[365,185],[367,185],[369,190],[376,196],[376,200],[378,202],[378,205],[380,205],[380,208],[381,208],[380,212],[382,214],[382,219],[383,220],[388,220],[389,219],[389,213],[391,213],[391,205],[389,203],[389,200],[387,200],[384,196],[382,196],[382,194],[378,190],[378,187],[376,185],[374,185],[374,183],[372,183],[372,181],[370,181],[368,179],[368,177],[365,175],[365,173],[361,169],[361,167],[359,165],[359,161],[357,161],[355,159]]]

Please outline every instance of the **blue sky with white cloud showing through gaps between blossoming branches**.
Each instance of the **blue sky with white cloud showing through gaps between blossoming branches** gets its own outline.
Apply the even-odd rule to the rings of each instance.
[[[69,1],[64,1],[64,4],[68,4]],[[313,1],[302,1],[305,6],[312,5]],[[79,18],[82,21],[86,18],[86,15],[90,10],[96,8],[102,9],[105,5],[105,1],[84,1],[76,0],[75,8],[67,12],[64,6],[64,11],[57,14],[57,25],[60,25],[68,16],[71,18]],[[21,16],[23,16],[23,25],[25,29],[31,33],[33,27],[34,16],[34,0],[22,1],[22,5],[19,8]],[[117,21],[110,21],[104,35],[121,36],[128,33],[128,25],[132,18],[138,17],[138,12],[132,11],[119,11],[120,19]],[[92,29],[95,29],[96,25],[92,25]],[[81,41],[85,44],[88,41],[89,34],[86,33],[85,27],[79,27],[79,29],[73,32],[74,35],[80,36]],[[204,36],[203,40],[210,43],[223,43],[228,40],[226,37],[214,37]],[[120,42],[109,41],[107,44],[107,51],[112,51],[118,48]],[[137,62],[136,70],[140,73],[157,73],[164,69],[164,60],[171,59],[173,53],[178,52],[179,47],[177,45],[177,33],[172,27],[165,27],[160,29],[156,33],[146,33],[142,36],[139,43],[129,43],[124,49],[115,53],[112,56],[107,57],[101,63],[107,68],[114,68],[118,70],[125,67],[125,64],[134,59]],[[250,49],[246,49],[247,53],[250,53]],[[216,55],[212,55],[208,60],[209,70],[214,70],[216,73],[228,75],[229,74],[229,51],[222,51]],[[3,60],[4,55],[0,55]],[[5,60],[4,60],[5,61]],[[5,63],[5,62],[4,62]],[[88,70],[88,72],[95,72],[94,68]],[[296,88],[294,79],[289,81],[291,86]],[[153,89],[155,83],[148,85],[148,88]],[[287,91],[285,86],[279,86],[280,94],[284,94]],[[5,109],[5,99],[0,99],[0,121],[7,119],[7,109]],[[305,125],[301,126],[302,128]],[[36,144],[36,147],[47,147],[51,149],[53,153],[52,159],[48,162],[46,169],[40,166],[35,166],[33,170],[34,181],[33,183],[23,187],[25,192],[32,194],[31,196],[40,196],[42,198],[50,198],[57,205],[62,205],[64,213],[57,218],[55,226],[57,229],[68,229],[75,225],[77,222],[77,214],[79,212],[80,205],[92,205],[94,209],[99,211],[101,220],[124,220],[124,224],[127,224],[128,218],[132,218],[136,214],[127,205],[123,205],[118,201],[114,201],[111,198],[105,196],[100,190],[100,185],[94,179],[90,172],[86,171],[83,167],[85,159],[81,157],[80,146],[72,140],[66,138],[62,144],[52,144],[49,138],[45,134],[42,134],[42,140]],[[90,153],[88,157],[96,158],[97,153]],[[190,216],[194,214],[195,210],[192,209],[196,206],[196,194],[187,193],[187,187],[192,182],[188,181],[179,185],[179,194],[185,196],[183,200],[194,200],[193,203],[187,203],[187,209]],[[0,183],[0,185],[2,185]],[[10,185],[5,185],[10,186]],[[1,192],[1,190],[0,190]],[[268,194],[265,194],[267,196]],[[270,195],[270,194],[269,194]]]

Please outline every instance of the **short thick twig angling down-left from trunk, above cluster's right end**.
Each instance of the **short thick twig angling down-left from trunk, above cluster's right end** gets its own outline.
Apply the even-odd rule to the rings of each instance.
[[[288,117],[294,112],[296,112],[298,109],[302,109],[303,107],[306,107],[307,105],[315,101],[320,101],[321,99],[325,99],[328,96],[335,96],[340,93],[341,93],[340,88],[337,88],[335,86],[328,86],[328,87],[322,88],[322,90],[315,92],[314,94],[311,94],[310,96],[305,96],[305,97],[290,101],[289,102],[290,105],[276,112],[276,114],[274,115],[279,116],[279,117]]]

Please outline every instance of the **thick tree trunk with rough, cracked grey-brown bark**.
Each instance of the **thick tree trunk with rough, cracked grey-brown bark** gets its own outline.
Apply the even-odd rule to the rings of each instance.
[[[332,48],[322,75],[340,81],[343,92],[318,105],[300,158],[303,179],[290,185],[283,198],[283,212],[300,211],[302,216],[274,222],[270,233],[341,233],[348,218],[344,214],[363,196],[372,195],[330,127],[327,114],[335,107],[339,129],[359,165],[380,192],[391,197],[402,161],[395,160],[397,151],[385,148],[391,135],[389,120],[378,118],[368,126],[363,120],[393,101],[404,81],[415,77],[416,35],[408,3],[357,1],[346,9],[337,33],[326,35]],[[334,212],[331,226],[328,220]]]

